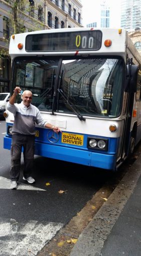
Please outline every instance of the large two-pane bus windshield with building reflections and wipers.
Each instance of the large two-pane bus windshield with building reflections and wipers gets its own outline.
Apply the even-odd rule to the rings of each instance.
[[[60,65],[61,61],[61,65]],[[40,111],[116,117],[121,110],[124,63],[119,58],[16,58],[13,89],[31,90]],[[17,97],[20,102],[21,97]]]

